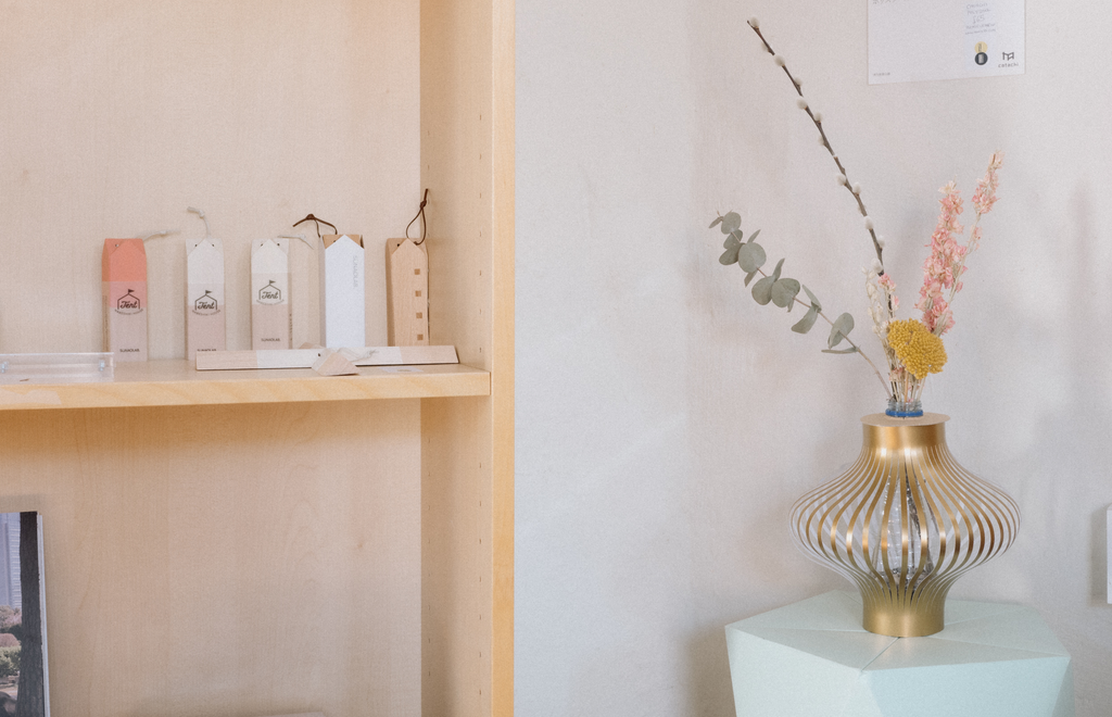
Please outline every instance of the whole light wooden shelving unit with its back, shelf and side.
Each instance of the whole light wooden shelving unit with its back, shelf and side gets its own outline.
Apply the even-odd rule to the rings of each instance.
[[[0,351],[99,350],[101,240],[191,236],[187,203],[234,297],[236,247],[306,211],[385,242],[428,187],[430,338],[460,357],[198,375],[180,247],[149,245],[157,360],[0,387],[54,714],[513,714],[513,0],[0,8]]]

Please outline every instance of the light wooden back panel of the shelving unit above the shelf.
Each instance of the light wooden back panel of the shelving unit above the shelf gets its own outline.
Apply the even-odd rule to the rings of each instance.
[[[308,212],[367,238],[385,345],[384,242],[420,199],[418,22],[411,1],[4,3],[0,221],[20,270],[0,349],[100,350],[103,239],[179,229],[147,249],[151,358],[182,357],[189,206],[225,242],[229,348],[250,348],[249,242]],[[315,257],[294,261],[297,338],[316,340]]]

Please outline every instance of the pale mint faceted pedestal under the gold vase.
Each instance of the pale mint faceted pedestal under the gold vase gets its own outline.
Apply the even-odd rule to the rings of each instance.
[[[1070,654],[1019,605],[946,601],[946,627],[887,637],[833,591],[726,626],[738,717],[1072,717]]]

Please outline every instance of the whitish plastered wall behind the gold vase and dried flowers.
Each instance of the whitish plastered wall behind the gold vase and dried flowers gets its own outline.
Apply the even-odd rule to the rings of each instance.
[[[1024,76],[884,87],[864,0],[518,0],[517,714],[728,715],[723,626],[850,587],[787,511],[856,456],[882,389],[756,306],[706,229],[738,210],[870,346],[867,236],[751,14],[864,186],[903,316],[937,188],[967,198],[1006,152],[925,404],[1023,522],[951,595],[1036,607],[1078,714],[1105,715],[1112,10],[1076,0],[1027,3]]]

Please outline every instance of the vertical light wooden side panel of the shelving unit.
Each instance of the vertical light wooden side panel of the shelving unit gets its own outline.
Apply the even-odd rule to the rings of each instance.
[[[425,715],[513,714],[514,3],[421,4],[430,327],[489,399],[423,409]]]

